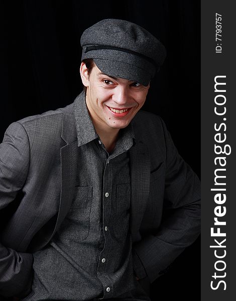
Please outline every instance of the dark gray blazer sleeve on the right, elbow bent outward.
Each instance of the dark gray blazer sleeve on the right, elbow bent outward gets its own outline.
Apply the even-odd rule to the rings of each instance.
[[[163,219],[155,234],[133,245],[137,276],[152,283],[200,233],[200,181],[178,154],[162,122],[166,149]]]

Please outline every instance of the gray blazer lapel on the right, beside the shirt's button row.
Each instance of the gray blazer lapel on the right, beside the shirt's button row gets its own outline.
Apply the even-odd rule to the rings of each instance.
[[[140,239],[139,228],[145,212],[150,187],[148,147],[138,141],[130,149],[131,161],[131,234],[133,242]]]

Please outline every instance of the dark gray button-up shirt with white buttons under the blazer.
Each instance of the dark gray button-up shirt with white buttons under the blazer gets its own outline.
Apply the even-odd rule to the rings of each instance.
[[[132,125],[120,130],[108,154],[85,100],[77,99],[74,110],[79,147],[74,198],[50,244],[34,253],[35,301],[108,299],[137,285],[129,231]]]

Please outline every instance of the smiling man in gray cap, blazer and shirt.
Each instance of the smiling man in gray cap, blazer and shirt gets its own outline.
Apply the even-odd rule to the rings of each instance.
[[[198,236],[199,180],[162,119],[140,111],[164,46],[107,19],[81,37],[84,91],[12,123],[0,148],[0,294],[150,300]]]

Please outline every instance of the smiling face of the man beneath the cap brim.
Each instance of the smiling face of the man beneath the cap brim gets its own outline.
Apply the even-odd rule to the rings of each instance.
[[[126,127],[143,106],[149,85],[103,74],[95,65],[89,76],[81,64],[81,78],[86,90],[86,104],[94,126],[104,130]]]

